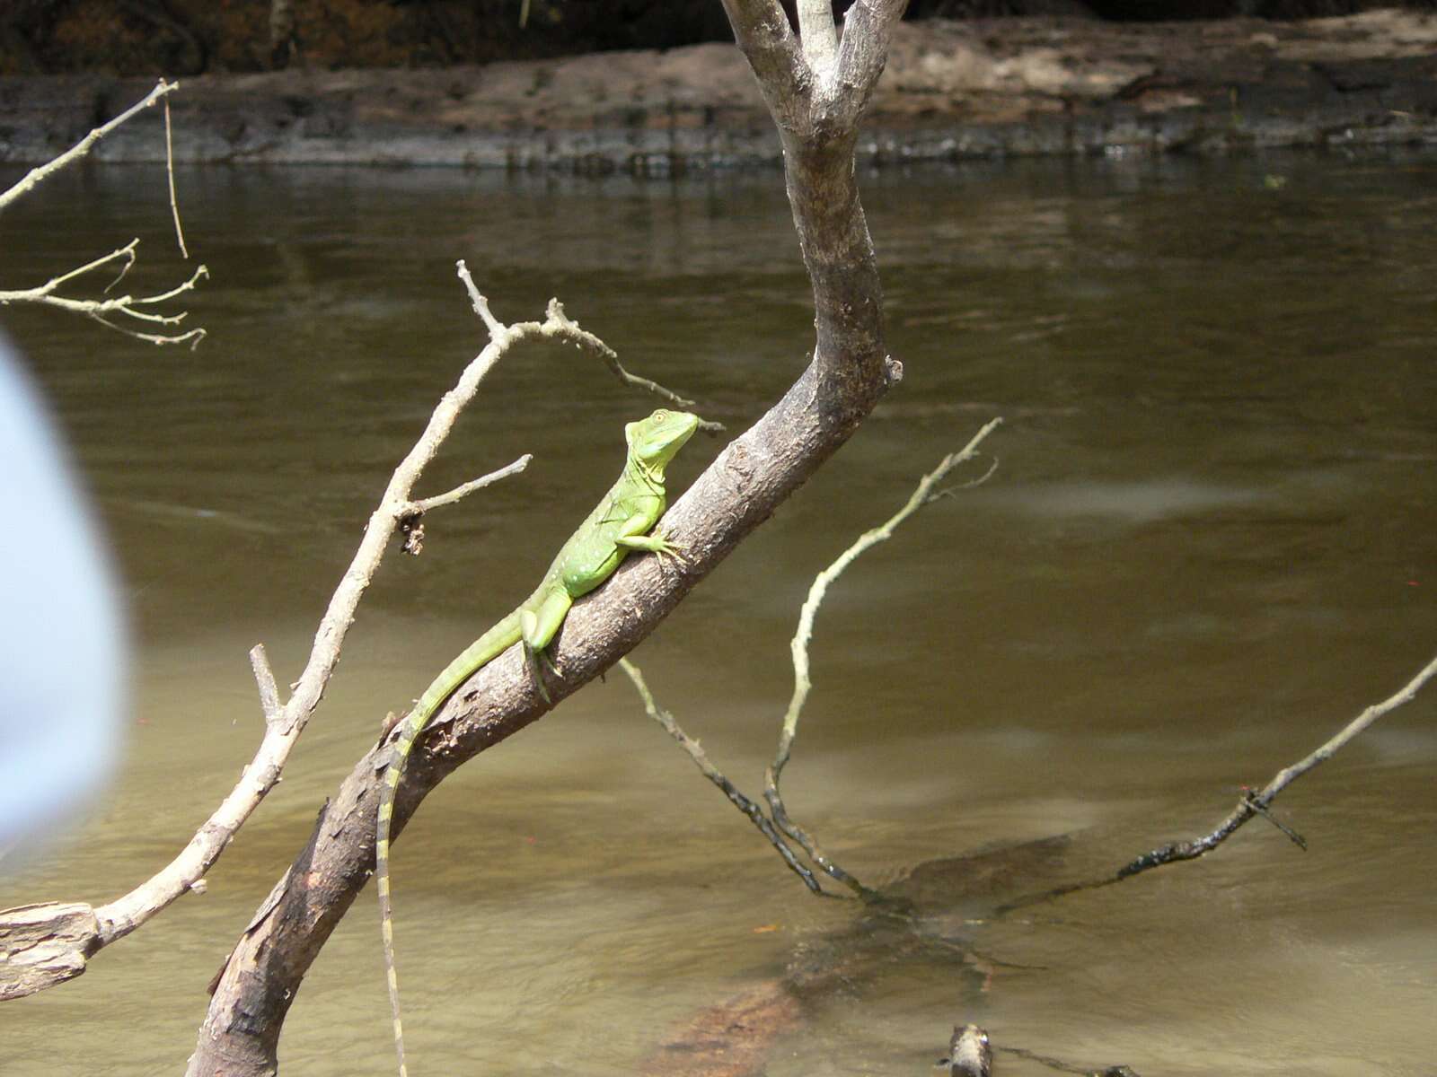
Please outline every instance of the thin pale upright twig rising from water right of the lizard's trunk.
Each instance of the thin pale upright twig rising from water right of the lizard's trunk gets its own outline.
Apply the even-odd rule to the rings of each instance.
[[[887,541],[892,537],[892,533],[907,520],[910,516],[917,513],[927,504],[941,497],[946,491],[934,493],[934,487],[947,477],[953,468],[977,455],[979,445],[983,439],[992,434],[1002,419],[993,419],[984,425],[973,439],[963,447],[958,452],[950,452],[943,461],[924,475],[918,485],[914,488],[908,501],[904,507],[894,513],[888,520],[885,520],[878,527],[874,527],[859,536],[858,541],[844,550],[838,560],[829,564],[823,572],[813,577],[813,584],[809,587],[808,599],[803,603],[803,609],[799,613],[798,630],[793,633],[793,640],[789,643],[789,652],[793,656],[793,695],[789,699],[789,708],[783,714],[783,728],[779,734],[779,745],[775,752],[773,763],[769,764],[767,774],[764,775],[764,800],[769,801],[769,811],[773,816],[773,821],[779,824],[779,829],[785,834],[798,841],[809,857],[822,867],[831,877],[844,883],[855,893],[867,896],[867,887],[858,882],[854,876],[848,875],[842,867],[829,860],[823,852],[819,849],[818,841],[810,833],[803,830],[798,823],[795,823],[785,806],[783,796],[779,791],[779,780],[783,775],[783,768],[789,763],[789,757],[793,750],[793,740],[798,737],[799,729],[799,715],[803,712],[803,704],[808,699],[809,691],[813,684],[809,679],[809,640],[813,638],[813,617],[818,615],[818,607],[823,602],[823,596],[828,593],[829,584],[836,580],[849,564],[852,564],[864,551],[872,549],[881,541]],[[989,468],[987,474],[993,470]],[[983,478],[987,478],[984,475]],[[983,480],[979,480],[983,481]]]

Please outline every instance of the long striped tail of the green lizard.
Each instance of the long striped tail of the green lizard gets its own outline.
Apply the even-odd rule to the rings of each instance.
[[[389,1008],[394,1011],[394,1050],[399,1055],[399,1077],[410,1077],[404,1066],[404,1028],[399,1024],[399,976],[394,971],[394,905],[389,900],[389,830],[394,824],[394,796],[404,775],[404,764],[410,758],[415,738],[424,731],[434,712],[444,705],[454,689],[473,676],[491,659],[502,655],[520,636],[519,610],[500,620],[494,628],[470,643],[464,652],[450,662],[444,672],[424,689],[424,695],[410,711],[394,741],[389,765],[384,771],[384,785],[379,788],[379,819],[374,839],[375,887],[379,890],[379,926],[384,932],[384,966],[389,979]]]

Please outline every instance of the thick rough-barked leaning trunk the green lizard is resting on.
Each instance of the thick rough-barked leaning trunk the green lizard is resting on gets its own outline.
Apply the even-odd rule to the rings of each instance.
[[[858,125],[905,0],[855,0],[836,52],[832,26],[800,9],[806,45],[779,0],[724,0],[785,148],[785,175],[813,283],[813,359],[773,408],[729,444],[673,505],[665,528],[687,563],[632,559],[569,613],[555,645],[558,702],[647,636],[872,411],[901,366],[884,350],[882,293],[858,198]],[[819,6],[822,7],[822,6]],[[476,673],[430,722],[395,803],[398,836],[418,803],[466,760],[550,709],[517,651]],[[190,1077],[277,1073],[280,1028],[300,981],[374,870],[374,823],[388,740],[320,810],[309,843],[244,929],[216,981]]]

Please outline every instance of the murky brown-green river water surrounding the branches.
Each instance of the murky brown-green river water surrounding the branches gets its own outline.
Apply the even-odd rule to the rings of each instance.
[[[1269,190],[1266,175],[1286,184]],[[7,310],[75,438],[141,639],[129,754],[0,905],[99,903],[193,833],[259,740],[247,649],[280,679],[389,467],[481,335],[550,294],[634,369],[741,426],[805,362],[776,177],[678,185],[448,171],[180,177],[214,281],[198,353]],[[139,233],[182,274],[162,174],[65,177],[0,223],[7,284]],[[790,807],[882,882],[984,843],[1075,839],[1056,876],[1206,830],[1437,652],[1437,162],[1056,162],[868,184],[907,381],[635,655],[750,791],[812,574],[992,415],[1002,460],[835,587]],[[391,557],[283,785],[190,898],[82,979],[0,1010],[6,1074],[180,1073],[204,985],[402,708],[537,577],[647,401],[573,352],[516,355],[427,480],[536,455]],[[717,451],[696,441],[685,485]],[[769,1063],[923,1074],[957,1020],[1154,1074],[1430,1074],[1437,695],[1295,785],[1299,853],[1217,854],[969,929],[986,985],[930,956],[805,1002]],[[1029,885],[1030,882],[1030,885]],[[466,767],[395,852],[415,1074],[631,1074],[674,1028],[823,954],[806,896],[611,678]],[[956,895],[956,900],[961,895]],[[305,982],[286,1073],[391,1071],[369,895]],[[1003,1074],[1048,1073],[999,1057]]]

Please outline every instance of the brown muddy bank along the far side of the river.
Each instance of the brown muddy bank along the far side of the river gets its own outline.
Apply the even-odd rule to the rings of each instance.
[[[0,79],[0,162],[47,159],[148,79]],[[421,70],[207,75],[172,98],[184,162],[565,171],[773,164],[777,139],[727,45]],[[1263,146],[1437,145],[1437,16],[1296,23],[930,20],[900,27],[868,162]],[[160,116],[95,151],[164,154]]]

